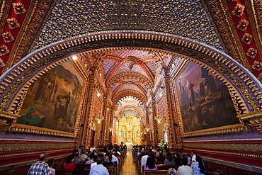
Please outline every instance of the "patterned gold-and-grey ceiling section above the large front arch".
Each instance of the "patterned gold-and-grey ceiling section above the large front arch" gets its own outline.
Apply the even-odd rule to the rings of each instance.
[[[57,0],[33,50],[102,30],[173,33],[222,49],[200,0]]]

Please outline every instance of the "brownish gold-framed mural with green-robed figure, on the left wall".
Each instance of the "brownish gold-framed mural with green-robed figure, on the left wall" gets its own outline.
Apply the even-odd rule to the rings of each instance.
[[[63,62],[35,81],[17,123],[74,132],[83,79],[72,62]]]

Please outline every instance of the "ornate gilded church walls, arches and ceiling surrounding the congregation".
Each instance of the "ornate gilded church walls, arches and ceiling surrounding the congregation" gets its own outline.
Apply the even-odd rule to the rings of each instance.
[[[261,1],[0,6],[0,171],[161,140],[262,171]]]

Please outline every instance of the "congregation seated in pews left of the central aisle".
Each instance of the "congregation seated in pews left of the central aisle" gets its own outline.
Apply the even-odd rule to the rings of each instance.
[[[30,166],[28,175],[33,175],[37,171],[52,175],[117,175],[123,164],[126,150],[125,146],[110,144],[109,147],[98,149],[92,145],[87,151],[80,145],[79,149],[60,162],[58,160],[55,162],[55,159],[46,160],[47,153],[43,152],[38,162]]]

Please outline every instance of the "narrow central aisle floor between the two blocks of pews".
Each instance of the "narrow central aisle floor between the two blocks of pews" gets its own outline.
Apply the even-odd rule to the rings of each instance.
[[[120,169],[119,175],[137,175],[137,167],[135,166],[135,162],[132,157],[131,147],[127,147],[127,155],[125,156],[125,162]]]

